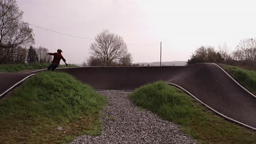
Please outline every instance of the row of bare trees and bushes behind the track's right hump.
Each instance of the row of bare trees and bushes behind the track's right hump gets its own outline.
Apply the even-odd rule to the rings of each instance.
[[[255,70],[256,38],[240,40],[234,51],[230,51],[226,44],[219,45],[218,50],[201,46],[192,53],[187,65],[195,63],[223,63]]]

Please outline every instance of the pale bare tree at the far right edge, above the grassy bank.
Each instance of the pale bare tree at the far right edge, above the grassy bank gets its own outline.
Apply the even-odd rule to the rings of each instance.
[[[240,40],[234,52],[237,61],[256,61],[256,39]]]

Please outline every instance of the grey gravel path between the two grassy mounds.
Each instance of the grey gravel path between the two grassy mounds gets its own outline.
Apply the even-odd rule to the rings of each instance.
[[[102,134],[83,135],[74,143],[196,143],[179,130],[179,126],[164,121],[155,113],[133,105],[131,92],[102,91],[108,104],[102,113]]]

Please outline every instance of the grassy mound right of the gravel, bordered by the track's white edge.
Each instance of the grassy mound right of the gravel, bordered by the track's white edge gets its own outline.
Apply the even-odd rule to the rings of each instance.
[[[200,143],[256,143],[256,133],[225,121],[181,89],[156,82],[136,89],[133,103],[182,125],[181,130]]]

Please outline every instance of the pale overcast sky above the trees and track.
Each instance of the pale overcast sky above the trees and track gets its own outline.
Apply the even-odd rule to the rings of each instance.
[[[187,61],[201,45],[230,49],[241,39],[256,38],[254,1],[229,0],[18,0],[23,20],[53,31],[94,38],[103,29],[123,37],[133,62]],[[82,63],[92,40],[33,27],[36,47],[62,49],[68,63]]]

